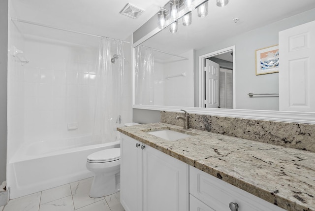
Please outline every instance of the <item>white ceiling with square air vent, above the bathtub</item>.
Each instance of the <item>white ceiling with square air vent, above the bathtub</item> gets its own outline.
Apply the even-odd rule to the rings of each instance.
[[[13,7],[11,16],[14,18],[125,40],[157,13],[167,0],[11,0],[11,2]],[[120,14],[127,3],[139,7],[144,12],[137,19]],[[34,33],[31,30],[29,32]]]

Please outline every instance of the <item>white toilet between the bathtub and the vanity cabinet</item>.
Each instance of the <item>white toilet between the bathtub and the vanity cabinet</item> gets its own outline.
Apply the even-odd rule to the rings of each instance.
[[[120,148],[109,148],[90,154],[86,167],[94,173],[90,197],[99,198],[120,191]]]

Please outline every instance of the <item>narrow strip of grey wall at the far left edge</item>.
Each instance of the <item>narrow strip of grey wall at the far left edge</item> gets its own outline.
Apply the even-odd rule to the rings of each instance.
[[[6,180],[8,0],[0,1],[0,183]]]

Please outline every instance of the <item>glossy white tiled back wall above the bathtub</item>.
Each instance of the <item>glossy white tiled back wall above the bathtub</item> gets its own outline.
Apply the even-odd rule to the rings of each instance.
[[[95,40],[97,42],[97,40]],[[24,137],[28,143],[92,132],[98,49],[27,37]],[[68,130],[76,123],[77,130]]]

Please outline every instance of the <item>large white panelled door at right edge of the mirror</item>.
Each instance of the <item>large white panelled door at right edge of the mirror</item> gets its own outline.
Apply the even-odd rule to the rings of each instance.
[[[315,111],[315,21],[279,32],[279,109]]]

